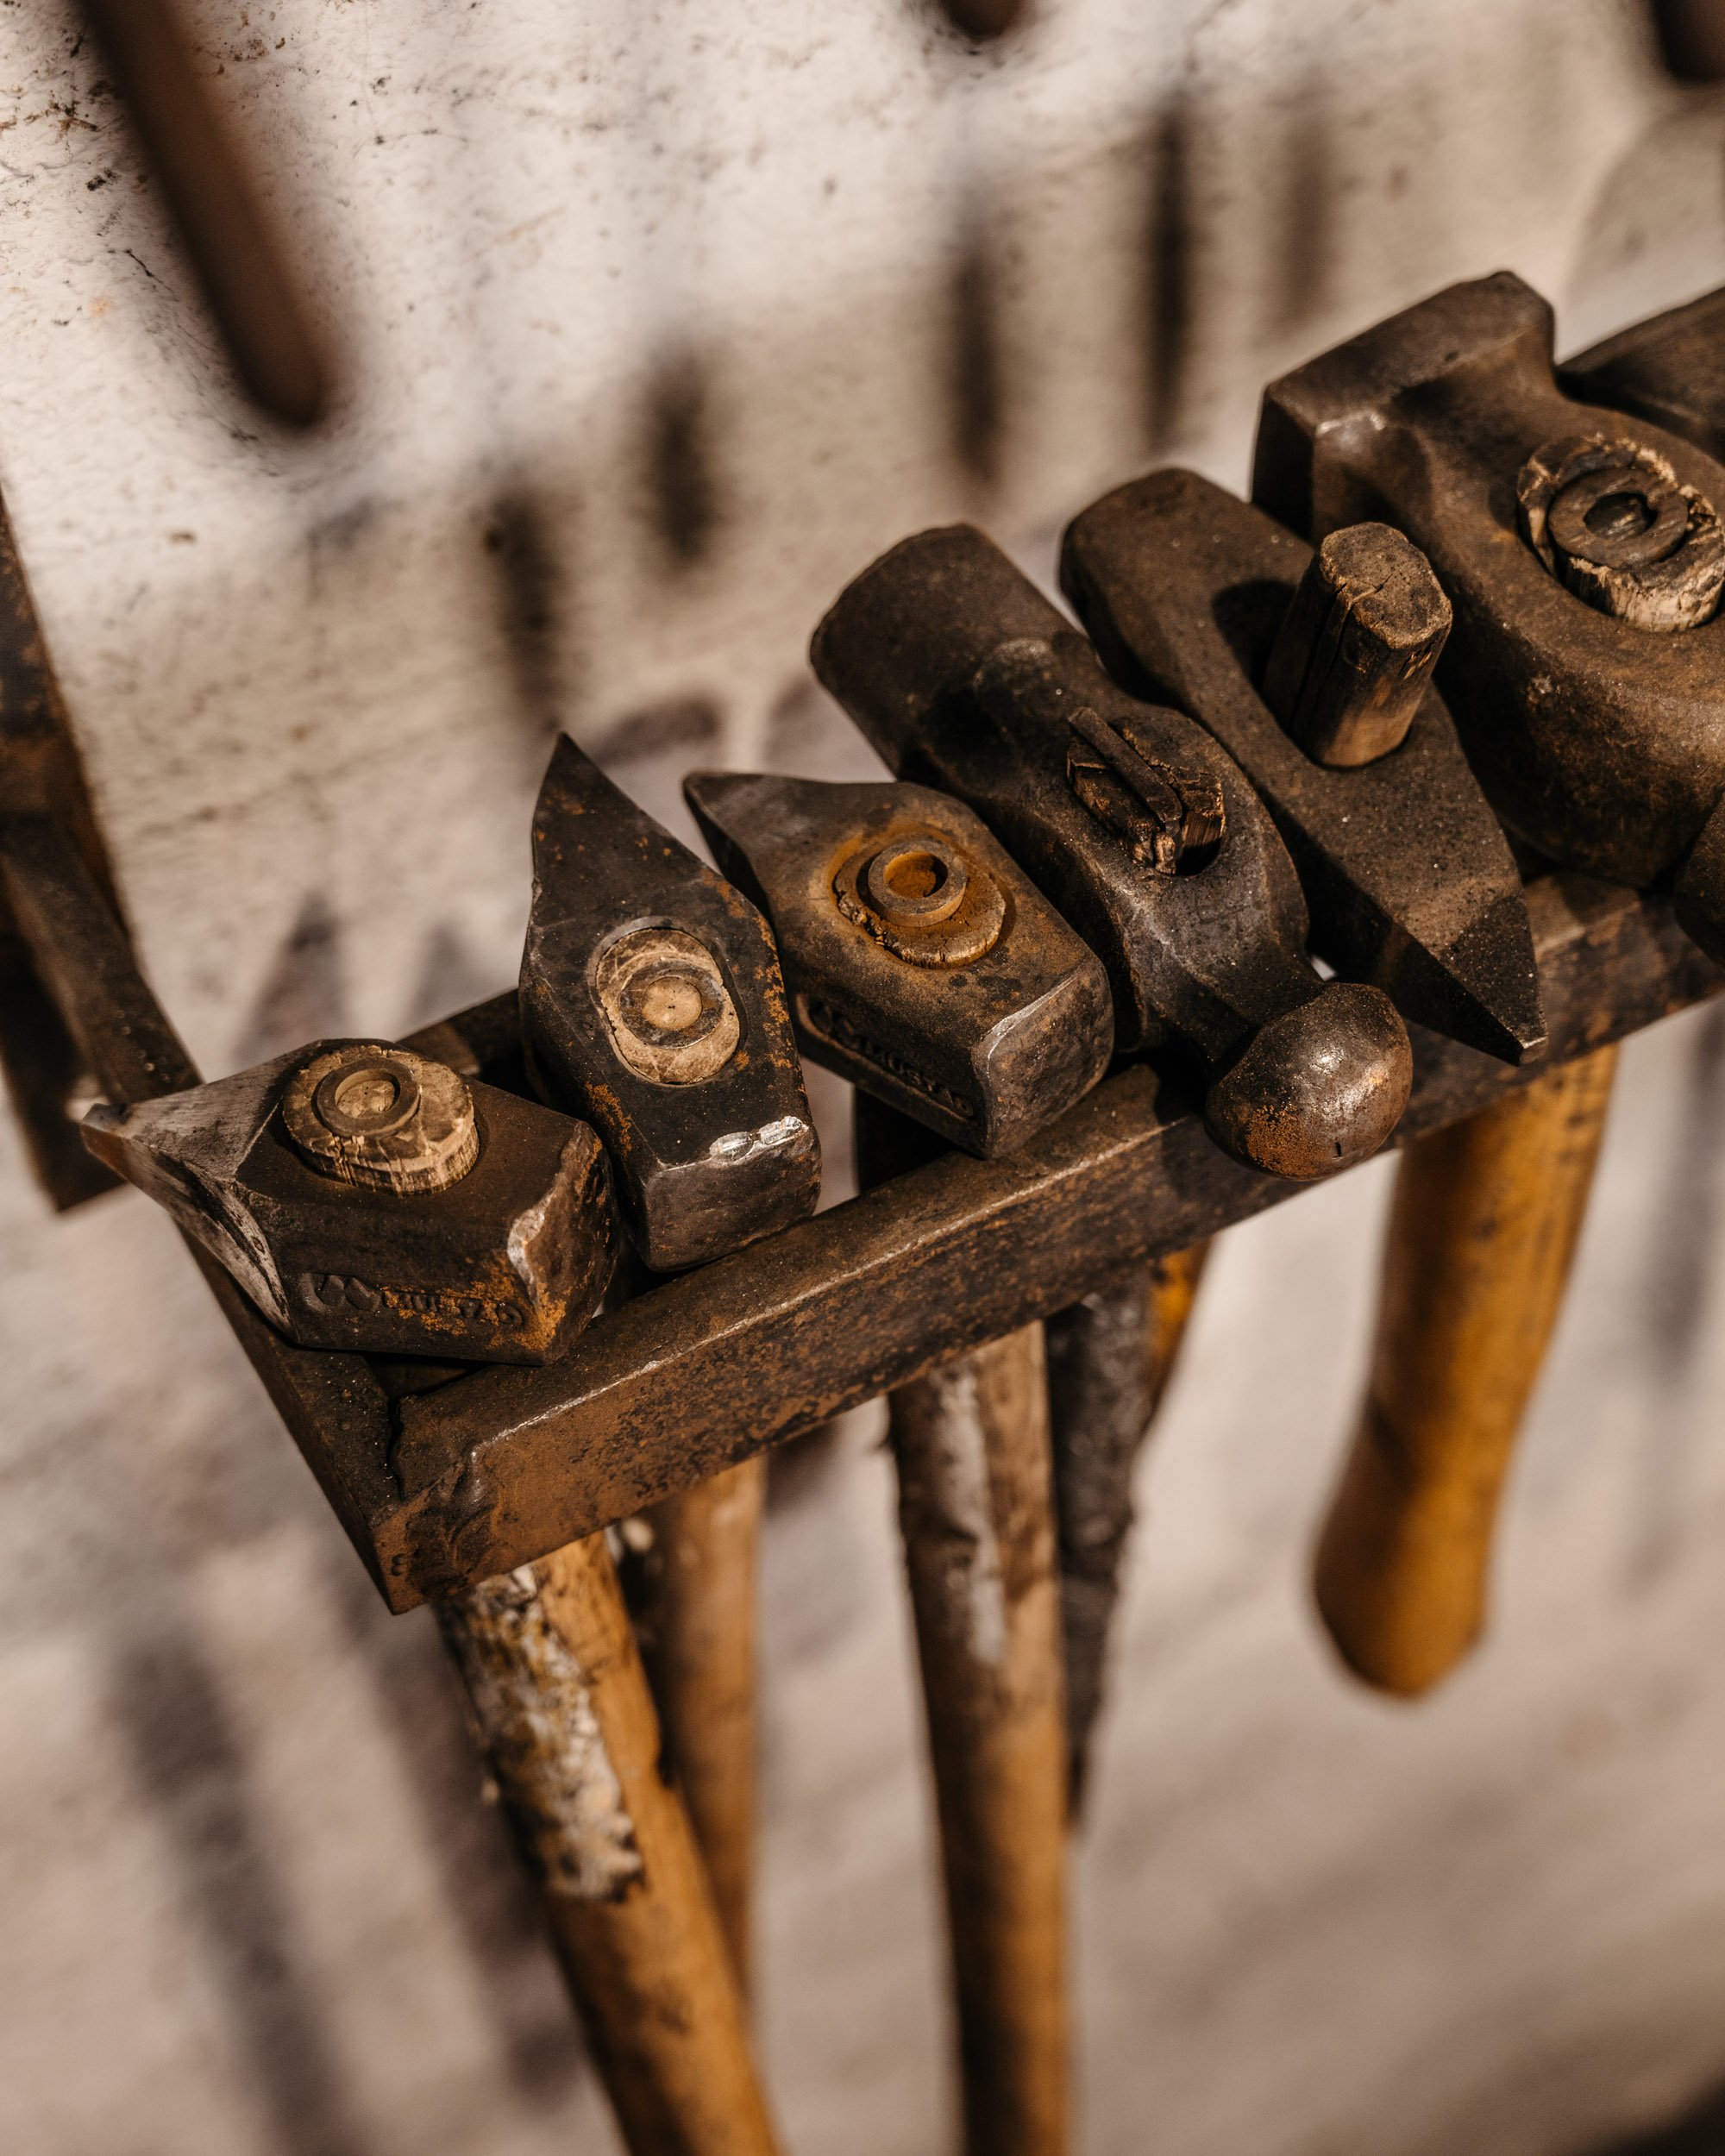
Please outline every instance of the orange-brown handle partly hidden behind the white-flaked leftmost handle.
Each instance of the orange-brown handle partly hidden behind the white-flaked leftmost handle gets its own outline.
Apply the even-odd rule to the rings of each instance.
[[[765,1488],[768,1460],[757,1453],[653,1507],[653,1587],[643,1619],[664,1749],[744,1992],[753,1964],[755,1580]]]

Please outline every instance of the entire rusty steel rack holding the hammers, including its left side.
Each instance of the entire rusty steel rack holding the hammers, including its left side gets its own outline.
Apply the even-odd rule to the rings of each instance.
[[[39,671],[45,681],[45,660]],[[6,780],[19,731],[9,716]],[[19,798],[17,785],[6,791]],[[0,819],[0,875],[97,1082],[121,1100],[196,1084],[101,875],[52,802]],[[1529,884],[1529,912],[1546,1059],[1512,1069],[1410,1028],[1414,1091],[1395,1143],[1725,987],[1662,897],[1548,873]],[[513,992],[405,1046],[492,1084],[524,1082]],[[1300,1188],[1229,1160],[1177,1082],[1138,1063],[1026,1151],[940,1156],[608,1311],[537,1369],[293,1348],[213,1259],[192,1255],[384,1600],[405,1611],[796,1438]]]

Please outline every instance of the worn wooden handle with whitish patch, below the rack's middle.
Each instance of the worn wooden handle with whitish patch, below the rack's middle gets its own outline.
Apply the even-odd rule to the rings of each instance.
[[[1041,1326],[891,1399],[968,2156],[1067,2145],[1065,1708]]]

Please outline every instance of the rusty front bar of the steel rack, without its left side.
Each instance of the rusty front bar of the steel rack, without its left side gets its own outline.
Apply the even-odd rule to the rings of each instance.
[[[1725,985],[1665,899],[1550,875],[1529,910],[1552,1065]],[[1421,1033],[1399,1138],[1533,1069]],[[1126,1069],[1031,1149],[944,1153],[606,1313],[558,1365],[399,1401],[373,1570],[399,1608],[507,1572],[1296,1188],[1220,1153],[1167,1078]]]

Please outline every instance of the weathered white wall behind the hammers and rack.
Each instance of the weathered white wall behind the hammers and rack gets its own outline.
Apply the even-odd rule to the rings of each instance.
[[[0,9],[0,485],[151,975],[209,1072],[511,979],[556,722],[867,770],[802,651],[968,513],[1033,569],[1279,367],[1509,265],[1576,345],[1725,278],[1725,114],[1628,0],[196,0],[351,397],[229,388],[65,0]],[[1557,2156],[1725,2076],[1725,1033],[1637,1044],[1499,1621],[1440,1699],[1302,1567],[1384,1171],[1229,1238],[1147,1462],[1080,1850],[1085,2150]],[[837,1089],[822,1104],[841,1119]],[[0,1117],[0,2145],[608,2147],[425,1613],[375,1604],[162,1218]],[[869,1416],[765,1563],[791,2147],[949,2145]]]

